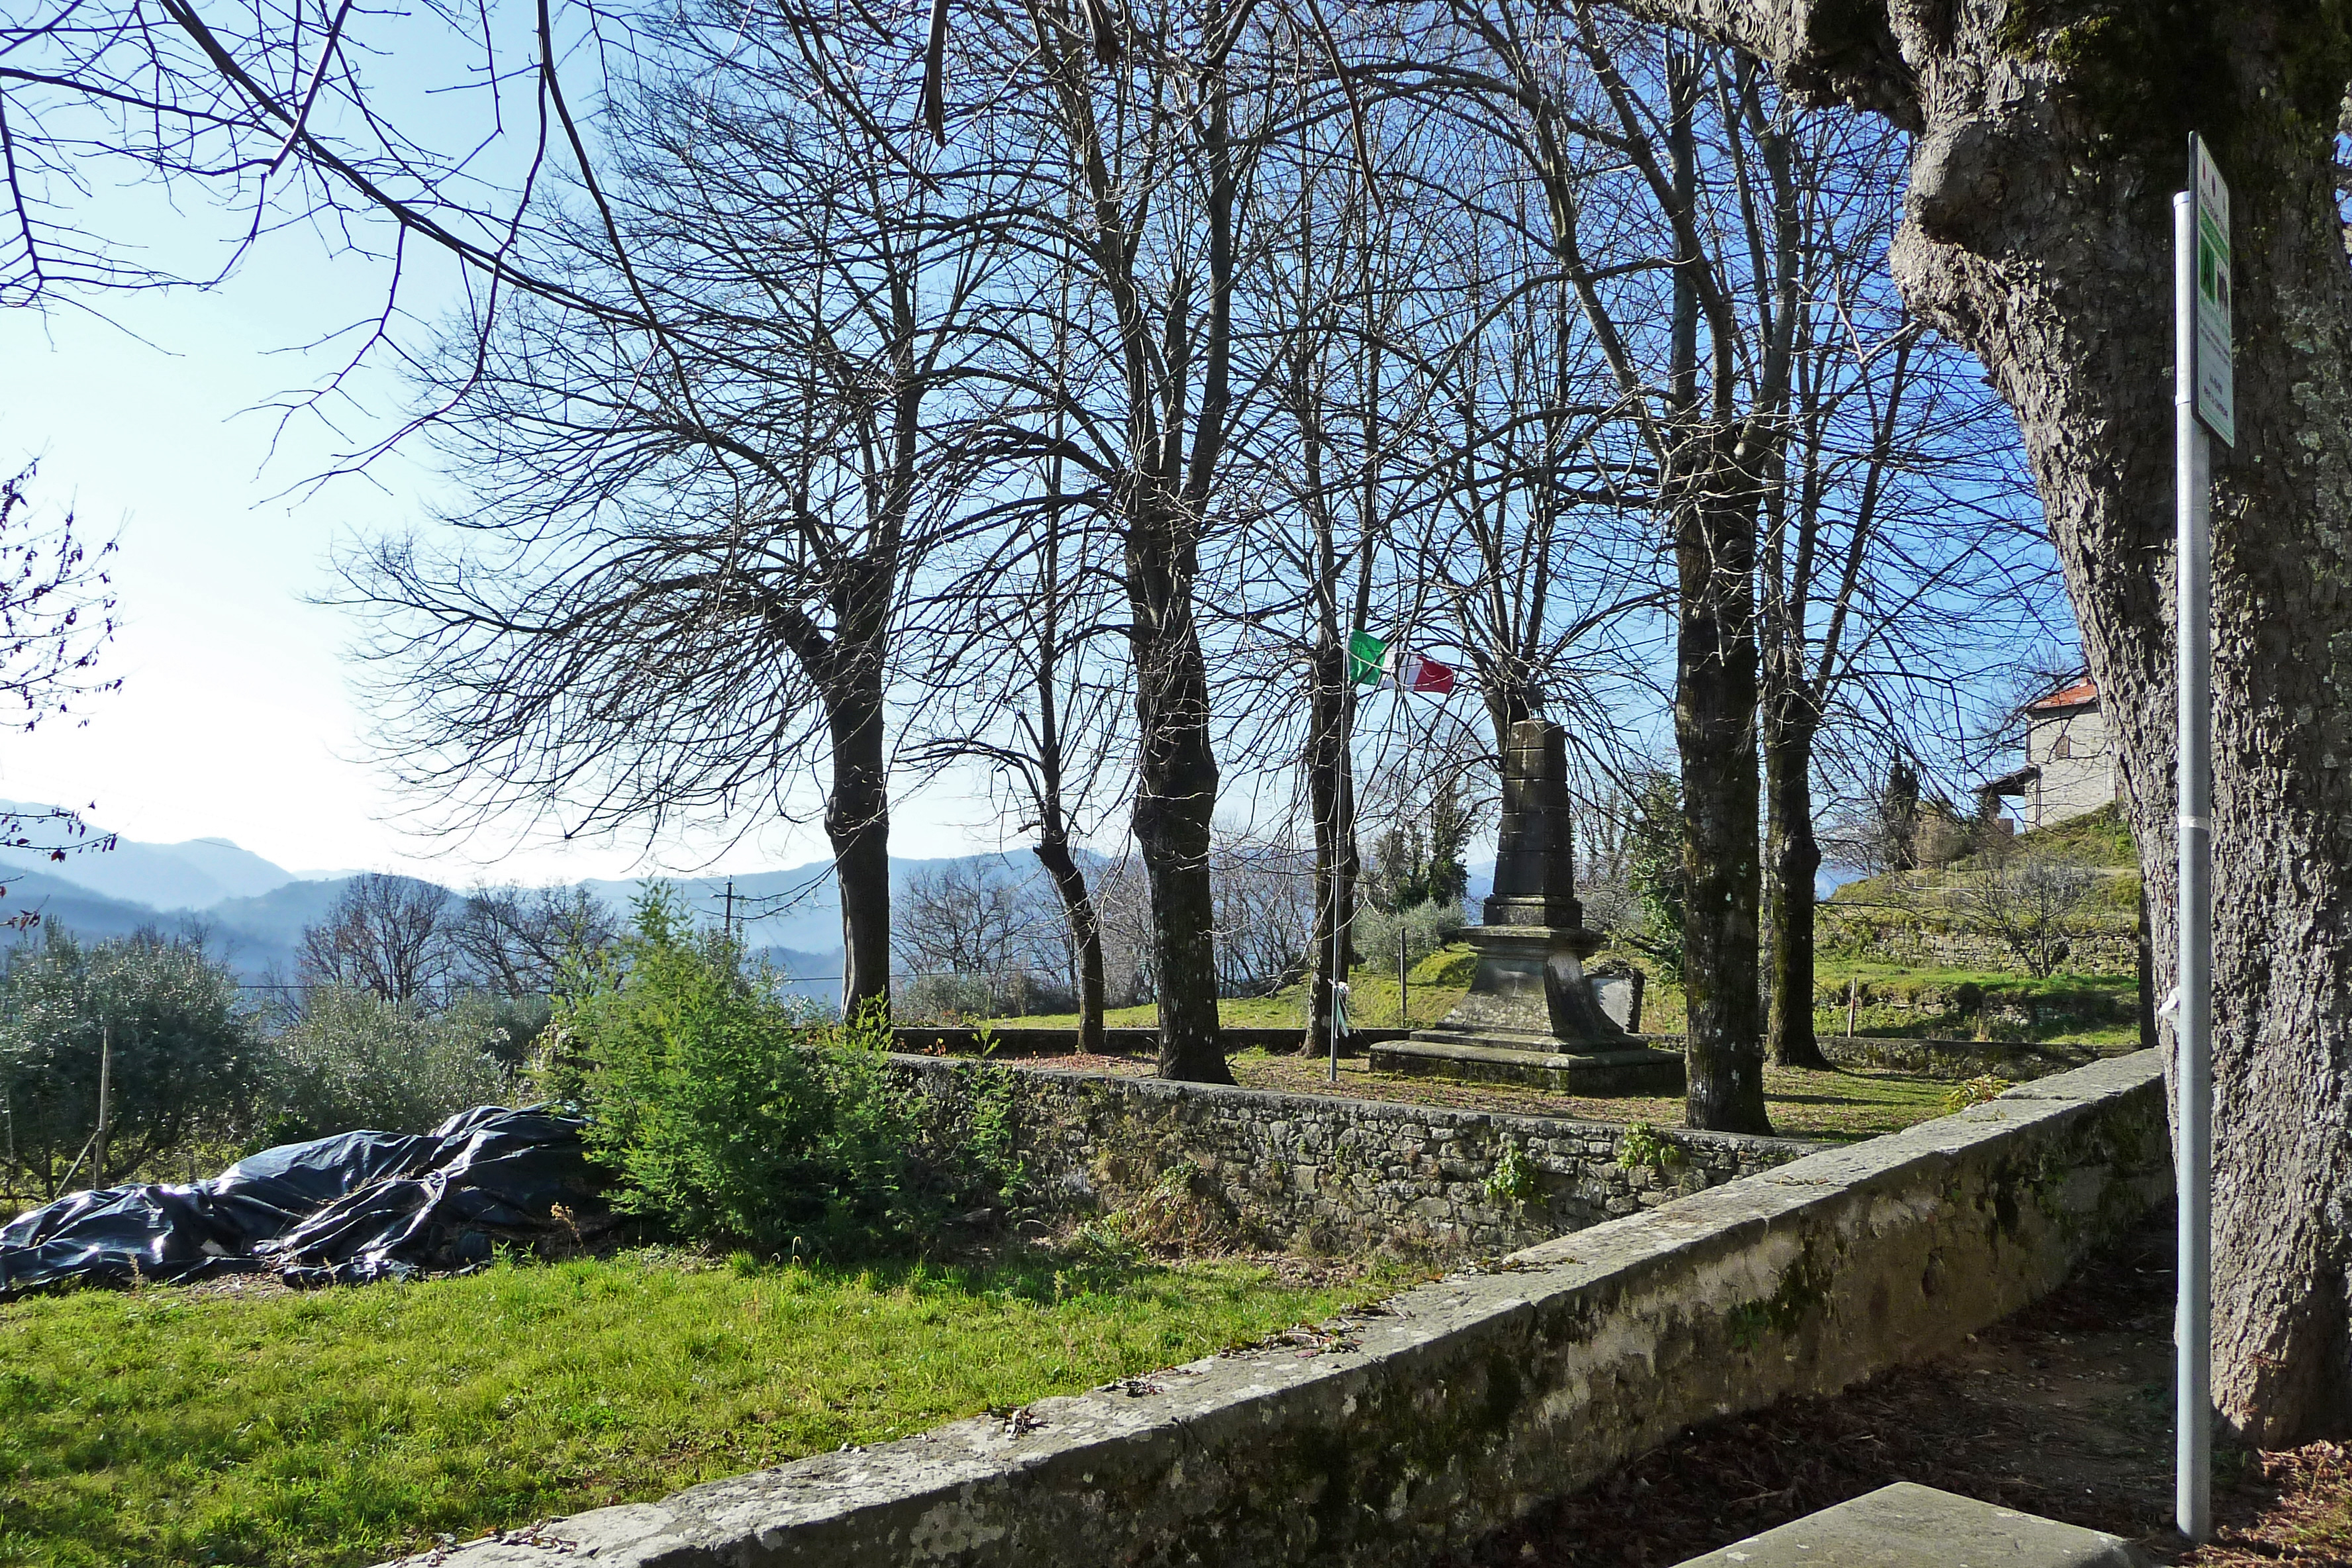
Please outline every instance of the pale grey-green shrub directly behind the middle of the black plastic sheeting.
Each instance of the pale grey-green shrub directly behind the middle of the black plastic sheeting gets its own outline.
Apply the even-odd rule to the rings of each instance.
[[[510,1037],[492,1009],[428,1013],[348,985],[308,994],[273,1041],[266,1143],[353,1128],[423,1133],[473,1105],[499,1105],[515,1079]]]

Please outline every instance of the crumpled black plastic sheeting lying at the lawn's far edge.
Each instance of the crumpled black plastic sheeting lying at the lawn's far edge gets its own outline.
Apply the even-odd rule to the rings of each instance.
[[[278,1274],[343,1286],[461,1269],[595,1190],[581,1124],[482,1105],[430,1133],[263,1150],[207,1182],[75,1192],[0,1225],[0,1300],[68,1281]]]

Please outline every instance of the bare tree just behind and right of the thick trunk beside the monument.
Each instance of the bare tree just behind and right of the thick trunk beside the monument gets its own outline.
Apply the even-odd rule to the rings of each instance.
[[[1844,741],[1865,778],[1889,750],[1929,750],[1922,731],[1950,731],[1987,665],[2046,632],[2056,583],[2009,411],[1884,280],[1898,136],[1809,115],[1790,158],[1792,430],[1766,475],[1757,559],[1766,1046],[1828,1067],[1813,1041],[1818,743]]]

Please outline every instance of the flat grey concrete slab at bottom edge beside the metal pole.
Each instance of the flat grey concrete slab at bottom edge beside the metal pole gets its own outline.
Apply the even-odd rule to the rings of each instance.
[[[1679,1568],[2147,1568],[2122,1535],[1896,1481]]]

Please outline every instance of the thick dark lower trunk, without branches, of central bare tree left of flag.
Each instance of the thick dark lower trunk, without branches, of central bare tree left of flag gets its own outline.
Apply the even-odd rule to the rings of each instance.
[[[1209,896],[1209,668],[1192,623],[1195,548],[1178,510],[1148,508],[1127,536],[1136,661],[1136,846],[1152,884],[1160,1077],[1230,1084],[1216,1034],[1216,903]]]

